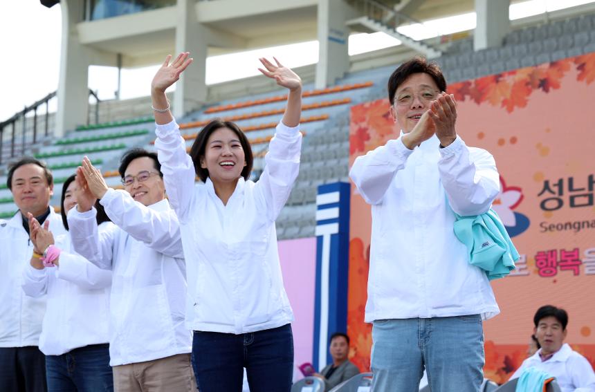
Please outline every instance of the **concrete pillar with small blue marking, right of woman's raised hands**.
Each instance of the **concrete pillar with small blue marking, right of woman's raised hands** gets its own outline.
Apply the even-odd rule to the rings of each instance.
[[[349,13],[344,0],[318,0],[316,88],[334,84],[349,69],[349,29],[345,26]]]

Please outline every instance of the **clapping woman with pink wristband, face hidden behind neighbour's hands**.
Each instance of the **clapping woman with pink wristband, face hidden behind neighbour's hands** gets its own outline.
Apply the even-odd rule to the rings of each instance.
[[[75,176],[62,187],[60,212],[66,230],[66,213],[77,204],[76,187]],[[106,230],[113,223],[96,207],[99,230]],[[46,355],[48,392],[113,391],[108,344],[111,271],[74,252],[70,232],[54,239],[48,223],[40,226],[29,214],[35,252],[22,283],[30,297],[47,295],[39,350]]]

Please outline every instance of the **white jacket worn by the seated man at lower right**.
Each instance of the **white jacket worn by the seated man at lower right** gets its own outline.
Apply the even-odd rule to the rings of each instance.
[[[537,353],[524,360],[511,380],[520,377],[527,368],[537,368],[556,377],[562,392],[595,392],[595,373],[589,361],[565,343],[549,360],[542,362]]]

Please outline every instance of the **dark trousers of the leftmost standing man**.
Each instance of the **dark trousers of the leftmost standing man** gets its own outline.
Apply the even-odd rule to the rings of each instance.
[[[0,391],[47,391],[46,357],[37,346],[0,347]]]

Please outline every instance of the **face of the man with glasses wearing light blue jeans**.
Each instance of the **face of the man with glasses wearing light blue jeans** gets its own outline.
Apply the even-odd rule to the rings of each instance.
[[[396,88],[390,113],[403,133],[411,132],[421,115],[439,93],[436,82],[427,73],[412,73]]]

